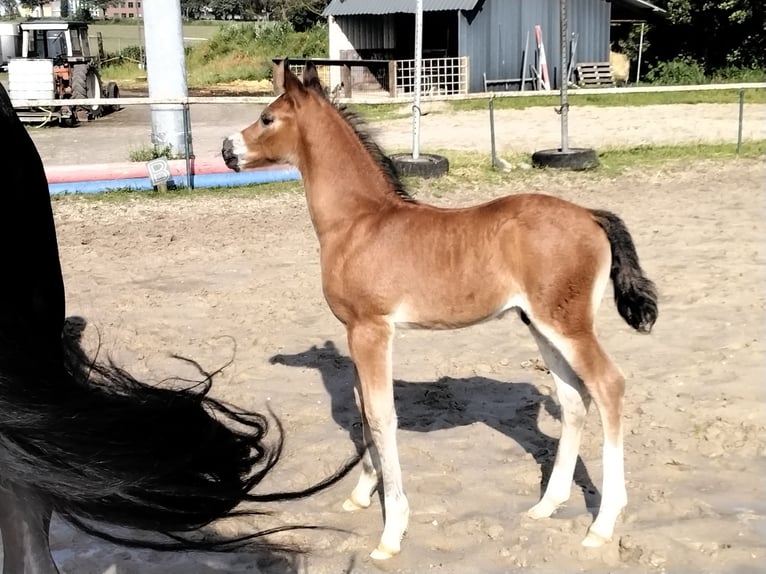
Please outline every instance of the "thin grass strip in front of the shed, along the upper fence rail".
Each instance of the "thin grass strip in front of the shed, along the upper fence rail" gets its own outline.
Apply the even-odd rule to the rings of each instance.
[[[625,94],[578,94],[577,90],[569,92],[569,103],[572,106],[650,106],[670,104],[732,104],[739,101],[739,90],[701,90],[694,92],[644,92]],[[766,90],[745,90],[745,103],[766,103]],[[526,96],[495,98],[495,109],[523,110],[538,106],[558,106],[561,98],[556,96]],[[486,110],[489,98],[476,100],[458,100],[449,102],[453,111]]]

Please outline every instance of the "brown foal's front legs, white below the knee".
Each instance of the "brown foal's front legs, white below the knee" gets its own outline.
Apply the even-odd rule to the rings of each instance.
[[[377,560],[399,553],[410,513],[402,487],[402,471],[396,448],[396,411],[391,368],[393,335],[393,326],[382,319],[356,322],[348,326],[349,348],[361,390],[361,411],[366,418],[383,479],[383,535],[371,554]],[[370,463],[371,460],[368,458],[366,462]],[[369,489],[370,480],[369,470],[363,470],[360,484],[354,493],[360,487],[362,490]]]

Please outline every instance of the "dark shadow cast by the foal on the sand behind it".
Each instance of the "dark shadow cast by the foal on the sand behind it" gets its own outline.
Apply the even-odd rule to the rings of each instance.
[[[333,419],[348,431],[357,448],[362,448],[360,418],[354,403],[354,364],[338,352],[334,342],[326,341],[323,347],[312,346],[295,355],[274,355],[270,362],[317,369],[330,395]],[[537,419],[540,409],[545,408],[560,420],[560,409],[534,385],[486,377],[442,377],[422,383],[395,380],[394,399],[400,429],[428,432],[482,422],[512,438],[540,465],[542,495],[553,470],[558,440],[542,432]],[[601,496],[579,456],[574,480],[586,507],[595,516]]]

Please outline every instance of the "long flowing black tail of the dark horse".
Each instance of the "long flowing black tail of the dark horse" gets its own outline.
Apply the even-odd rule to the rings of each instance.
[[[68,329],[63,362],[41,360],[28,345],[14,346],[1,335],[2,478],[33,485],[42,501],[89,534],[158,550],[231,550],[263,534],[313,528],[228,538],[189,534],[221,518],[268,514],[237,506],[308,496],[358,461],[304,490],[251,493],[280,457],[281,426],[275,419],[278,437],[268,445],[266,417],[208,396],[212,375],[183,387],[179,381],[174,388],[155,386],[90,361]],[[103,523],[165,537],[121,536]]]

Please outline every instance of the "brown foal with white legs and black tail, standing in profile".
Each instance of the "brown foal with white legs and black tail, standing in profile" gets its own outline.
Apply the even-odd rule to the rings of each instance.
[[[399,552],[409,516],[396,447],[394,329],[465,327],[511,309],[537,341],[561,403],[553,472],[529,515],[548,517],[569,498],[593,400],[604,431],[604,476],[601,506],[583,544],[610,540],[627,495],[625,380],[594,329],[609,279],[627,323],[649,332],[657,319],[654,285],[624,223],[609,212],[546,195],[508,196],[463,209],[419,203],[353,116],[327,100],[312,65],[303,82],[283,72],[282,94],[254,124],[227,138],[222,153],[234,170],[288,162],[301,172],[319,238],[322,287],[347,329],[371,445],[343,507],[366,508],[375,489],[383,489],[385,525],[372,556]]]

